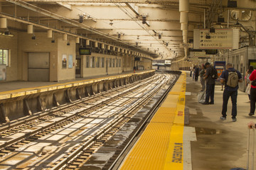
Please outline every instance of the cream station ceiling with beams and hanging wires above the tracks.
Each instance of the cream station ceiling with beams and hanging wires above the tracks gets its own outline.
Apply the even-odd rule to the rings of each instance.
[[[154,59],[174,59],[185,55],[178,4],[178,0],[6,0],[1,1],[1,16],[9,16],[10,29],[26,31],[31,22],[37,24],[35,31],[54,28]],[[188,41],[193,40],[194,28],[203,28],[205,17],[209,28],[218,15],[233,10],[227,4],[228,0],[190,0]],[[235,10],[255,11],[255,6],[252,0],[238,1]]]

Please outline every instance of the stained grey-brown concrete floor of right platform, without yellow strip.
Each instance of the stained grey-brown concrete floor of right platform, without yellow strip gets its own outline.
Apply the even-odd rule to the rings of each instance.
[[[238,121],[231,119],[231,99],[228,102],[227,120],[220,120],[223,91],[215,86],[214,105],[198,103],[197,94],[201,90],[200,81],[192,81],[187,74],[186,108],[190,114],[188,126],[196,128],[196,142],[191,142],[193,170],[229,170],[235,167],[246,169],[247,123],[256,122],[256,116],[248,115],[250,102],[247,94],[238,91]],[[255,141],[256,142],[256,141]],[[255,167],[256,169],[256,164]]]

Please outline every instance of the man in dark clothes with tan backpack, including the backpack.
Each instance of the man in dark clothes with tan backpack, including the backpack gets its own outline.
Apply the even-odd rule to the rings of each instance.
[[[228,63],[227,69],[220,75],[220,83],[225,82],[223,91],[223,110],[220,120],[226,120],[228,99],[232,101],[232,121],[235,122],[237,115],[237,98],[238,98],[238,82],[242,82],[242,75],[238,70],[233,68],[233,65]]]

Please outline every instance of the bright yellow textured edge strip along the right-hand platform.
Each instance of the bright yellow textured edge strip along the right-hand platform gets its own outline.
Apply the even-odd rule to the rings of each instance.
[[[120,169],[183,170],[186,72],[182,72],[178,82],[127,154]],[[169,118],[166,117],[168,113]]]

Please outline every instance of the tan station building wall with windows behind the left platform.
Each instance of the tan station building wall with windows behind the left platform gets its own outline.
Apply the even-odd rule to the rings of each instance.
[[[36,39],[32,39],[32,34],[26,32],[11,31],[13,37],[1,35],[0,49],[9,50],[9,65],[6,67],[6,81],[29,81],[28,58],[33,53],[48,53],[48,79],[49,81],[64,81],[75,79],[75,63],[78,57],[78,45],[75,38],[63,40],[63,36],[53,33],[53,38],[47,38],[46,33],[35,33]],[[69,45],[67,45],[69,42]],[[122,72],[132,72],[134,66],[142,66],[145,70],[151,69],[151,60],[142,59],[134,62],[134,56],[128,54],[106,55],[92,52],[89,60],[94,58],[94,66],[87,67],[87,56],[80,56],[80,77],[101,76],[106,74],[120,74]],[[97,60],[100,58],[100,64]],[[102,67],[104,59],[104,67]],[[114,65],[113,65],[114,61]],[[110,64],[111,62],[111,64]],[[106,67],[107,64],[107,67]],[[140,67],[140,68],[142,68]],[[137,67],[138,68],[138,67]],[[35,74],[36,75],[36,74]],[[41,76],[42,74],[38,74]],[[0,83],[3,81],[0,81]]]

